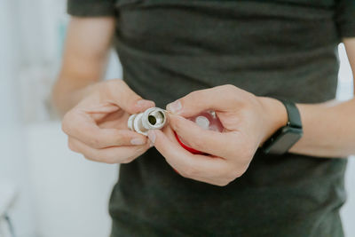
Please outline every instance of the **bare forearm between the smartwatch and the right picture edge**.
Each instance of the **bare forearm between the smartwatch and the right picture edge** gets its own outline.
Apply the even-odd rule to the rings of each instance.
[[[346,157],[355,154],[355,99],[345,102],[298,104],[304,137],[291,153],[319,157]]]

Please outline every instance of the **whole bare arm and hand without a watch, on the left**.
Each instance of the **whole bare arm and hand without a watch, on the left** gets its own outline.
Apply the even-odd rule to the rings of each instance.
[[[87,159],[127,163],[146,152],[149,140],[128,130],[130,114],[154,107],[122,80],[100,82],[114,34],[113,18],[73,18],[52,100],[69,148]]]

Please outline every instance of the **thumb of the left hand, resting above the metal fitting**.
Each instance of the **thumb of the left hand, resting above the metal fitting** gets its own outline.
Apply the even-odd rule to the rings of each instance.
[[[114,100],[112,102],[129,114],[137,114],[155,106],[154,101],[142,99],[123,80],[117,80],[114,90],[110,91],[112,91],[111,99]]]

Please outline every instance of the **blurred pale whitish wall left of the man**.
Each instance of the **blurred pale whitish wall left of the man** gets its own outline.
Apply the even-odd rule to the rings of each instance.
[[[0,1],[0,182],[18,190],[10,211],[18,237],[110,231],[107,202],[118,167],[70,152],[48,103],[66,24],[63,0]],[[119,61],[111,58],[107,76],[118,78]]]

